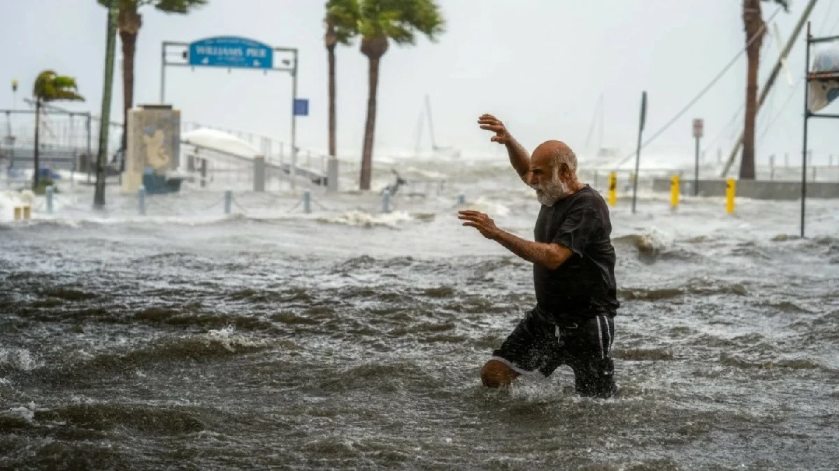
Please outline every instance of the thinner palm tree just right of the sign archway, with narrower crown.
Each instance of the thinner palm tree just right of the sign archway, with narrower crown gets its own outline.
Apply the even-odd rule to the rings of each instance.
[[[348,46],[358,34],[358,0],[327,0],[324,43],[329,60],[329,155],[335,157],[335,48]]]

